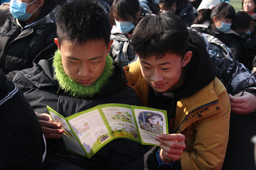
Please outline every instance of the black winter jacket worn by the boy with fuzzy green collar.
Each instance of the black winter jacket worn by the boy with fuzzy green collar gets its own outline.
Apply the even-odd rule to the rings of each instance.
[[[35,61],[35,60],[34,60]],[[47,105],[64,117],[92,108],[100,104],[119,103],[128,105],[141,105],[139,96],[126,85],[126,78],[122,67],[115,62],[114,76],[109,83],[101,87],[100,92],[93,99],[73,98],[60,90],[54,79],[53,58],[40,60],[33,68],[17,72],[13,81],[24,92],[34,110],[38,113],[48,113]],[[62,140],[47,140],[48,154],[44,167],[59,169],[67,168],[67,161],[83,169],[157,169],[154,151],[129,139],[115,139],[106,144],[90,159],[82,158],[77,154],[66,151]],[[65,156],[63,156],[65,155]],[[70,157],[72,156],[72,157]],[[52,158],[54,157],[54,159]],[[57,157],[57,158],[56,158]],[[144,157],[148,157],[145,159]],[[65,158],[65,161],[60,159]],[[150,161],[145,161],[150,160]],[[56,161],[58,160],[58,161]],[[72,165],[73,166],[73,165]],[[77,168],[79,169],[79,168]]]

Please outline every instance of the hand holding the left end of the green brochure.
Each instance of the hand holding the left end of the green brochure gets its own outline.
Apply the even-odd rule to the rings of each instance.
[[[45,137],[59,139],[61,137],[60,135],[64,132],[62,129],[60,129],[61,124],[53,122],[51,116],[47,113],[35,113]]]

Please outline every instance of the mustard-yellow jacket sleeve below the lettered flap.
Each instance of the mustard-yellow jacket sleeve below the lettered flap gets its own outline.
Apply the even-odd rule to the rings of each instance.
[[[215,89],[220,89],[219,87],[216,88],[216,86],[219,85],[215,85]],[[219,106],[215,106],[216,110],[223,109],[190,124],[189,126],[191,127],[182,132],[186,138],[190,138],[190,142],[192,141],[191,143],[186,143],[185,141],[186,146],[190,144],[191,148],[186,148],[181,155],[182,169],[222,168],[228,143],[231,108],[226,90],[219,90],[216,93]],[[189,136],[189,133],[194,133],[195,135]]]

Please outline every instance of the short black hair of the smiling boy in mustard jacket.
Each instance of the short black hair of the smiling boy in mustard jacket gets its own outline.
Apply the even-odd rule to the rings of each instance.
[[[140,58],[155,56],[156,60],[166,53],[184,57],[188,48],[189,32],[185,22],[176,14],[163,12],[143,17],[131,36],[133,50]]]

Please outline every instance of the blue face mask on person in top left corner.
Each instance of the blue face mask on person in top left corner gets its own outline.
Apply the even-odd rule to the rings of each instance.
[[[36,0],[35,0],[36,1]],[[32,3],[34,3],[35,1],[33,1]],[[26,21],[28,20],[32,14],[38,9],[36,9],[34,12],[32,12],[31,14],[26,12],[27,6],[32,4],[32,3],[23,3],[17,0],[11,0],[10,2],[10,11],[12,13],[12,15],[19,19],[19,20],[23,20]]]

